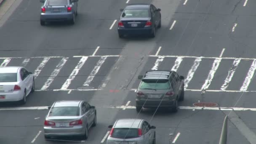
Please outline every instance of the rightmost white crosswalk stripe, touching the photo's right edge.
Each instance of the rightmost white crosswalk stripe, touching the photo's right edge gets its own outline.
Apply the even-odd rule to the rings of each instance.
[[[240,88],[240,91],[246,91],[249,84],[251,83],[251,79],[253,78],[253,74],[255,72],[256,69],[256,60],[254,60],[251,64],[251,67],[247,73],[247,76],[245,77],[245,80],[243,82],[242,87]]]

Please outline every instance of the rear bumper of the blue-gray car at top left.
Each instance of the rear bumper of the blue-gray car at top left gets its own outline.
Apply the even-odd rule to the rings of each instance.
[[[73,19],[73,13],[41,13],[41,21],[70,21]]]

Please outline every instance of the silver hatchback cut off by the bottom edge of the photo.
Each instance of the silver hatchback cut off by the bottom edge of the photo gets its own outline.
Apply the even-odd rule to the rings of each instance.
[[[155,144],[155,126],[146,120],[119,119],[109,125],[107,144]]]

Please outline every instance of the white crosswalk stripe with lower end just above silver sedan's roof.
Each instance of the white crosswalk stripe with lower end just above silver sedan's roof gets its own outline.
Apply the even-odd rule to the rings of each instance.
[[[71,83],[72,80],[74,80],[75,76],[78,74],[79,70],[81,69],[81,67],[83,67],[83,65],[85,64],[85,61],[88,59],[88,56],[83,56],[80,61],[78,62],[77,66],[75,67],[75,69],[71,72],[71,74],[69,75],[68,79],[66,80],[66,82],[62,85],[61,89],[67,89]]]

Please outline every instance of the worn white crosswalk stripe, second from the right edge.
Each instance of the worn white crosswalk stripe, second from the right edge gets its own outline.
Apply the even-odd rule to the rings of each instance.
[[[229,69],[228,75],[224,81],[224,84],[221,86],[221,90],[224,91],[229,86],[229,82],[232,80],[232,77],[235,73],[235,70],[237,69],[238,64],[240,63],[241,59],[235,59],[232,67]]]

